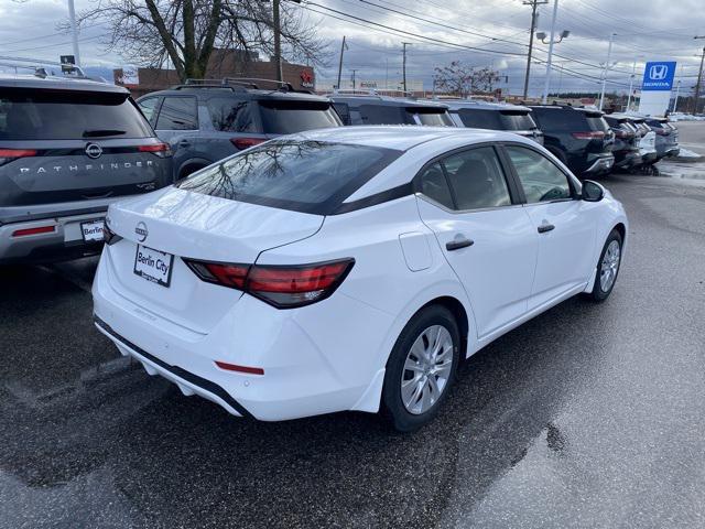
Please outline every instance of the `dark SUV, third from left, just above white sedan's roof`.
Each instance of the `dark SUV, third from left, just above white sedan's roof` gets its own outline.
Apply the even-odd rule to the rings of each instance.
[[[345,125],[455,126],[448,107],[433,101],[347,94],[334,94],[330,99]]]

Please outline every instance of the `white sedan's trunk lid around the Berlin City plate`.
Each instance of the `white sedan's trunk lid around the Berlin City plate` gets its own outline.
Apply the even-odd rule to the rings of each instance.
[[[108,218],[123,237],[106,246],[116,291],[142,311],[207,333],[242,294],[198,279],[183,258],[251,264],[264,250],[311,237],[325,217],[166,187],[110,206]],[[138,245],[174,256],[167,287],[134,272]]]

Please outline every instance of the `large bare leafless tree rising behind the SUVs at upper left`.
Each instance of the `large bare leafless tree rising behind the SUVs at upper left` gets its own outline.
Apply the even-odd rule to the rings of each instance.
[[[107,23],[109,51],[141,66],[171,62],[182,79],[204,77],[216,47],[274,51],[272,6],[262,0],[95,0],[78,21]],[[280,24],[284,55],[321,64],[325,43],[296,6],[282,3]]]

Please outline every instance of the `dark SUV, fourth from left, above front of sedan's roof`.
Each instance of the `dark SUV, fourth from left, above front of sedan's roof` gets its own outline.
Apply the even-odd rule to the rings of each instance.
[[[458,127],[506,130],[543,145],[543,132],[531,117],[531,109],[503,102],[448,100],[451,116]]]

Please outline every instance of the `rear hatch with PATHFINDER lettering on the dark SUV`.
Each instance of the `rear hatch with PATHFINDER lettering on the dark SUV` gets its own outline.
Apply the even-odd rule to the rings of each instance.
[[[0,88],[0,206],[155,190],[170,155],[127,91]]]

